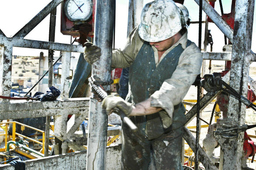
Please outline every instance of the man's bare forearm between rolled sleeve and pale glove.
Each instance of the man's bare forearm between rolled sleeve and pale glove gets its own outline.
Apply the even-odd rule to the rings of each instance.
[[[145,101],[142,101],[133,106],[133,111],[130,116],[143,116],[148,114],[153,114],[162,110],[159,107],[151,107],[150,106],[151,98],[148,98]]]

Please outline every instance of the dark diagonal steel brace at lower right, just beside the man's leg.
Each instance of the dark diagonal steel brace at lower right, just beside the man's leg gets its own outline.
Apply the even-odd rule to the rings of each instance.
[[[191,147],[193,152],[195,153],[195,137],[191,134],[189,129],[184,126],[183,138],[187,142],[187,144]],[[209,156],[205,153],[201,146],[198,149],[198,158],[206,170],[218,170],[218,168],[214,165]]]

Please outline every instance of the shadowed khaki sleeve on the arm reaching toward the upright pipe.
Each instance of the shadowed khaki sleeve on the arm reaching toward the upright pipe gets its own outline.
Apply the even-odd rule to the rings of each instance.
[[[138,28],[135,28],[127,38],[123,49],[116,49],[112,52],[112,68],[126,68],[129,67],[141,46],[143,40],[140,38]]]

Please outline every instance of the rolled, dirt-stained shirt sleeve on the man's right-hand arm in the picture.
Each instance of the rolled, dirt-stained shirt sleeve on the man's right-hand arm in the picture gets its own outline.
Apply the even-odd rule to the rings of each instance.
[[[179,104],[195,78],[200,74],[202,53],[194,42],[180,55],[179,63],[170,79],[151,95],[151,107],[161,107],[168,115],[173,114],[173,106]],[[172,116],[170,116],[172,118]]]

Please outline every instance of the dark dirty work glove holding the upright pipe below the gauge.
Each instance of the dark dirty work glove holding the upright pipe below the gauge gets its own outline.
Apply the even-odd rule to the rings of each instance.
[[[91,42],[84,43],[84,59],[89,63],[93,64],[101,57],[101,48],[93,45]]]

